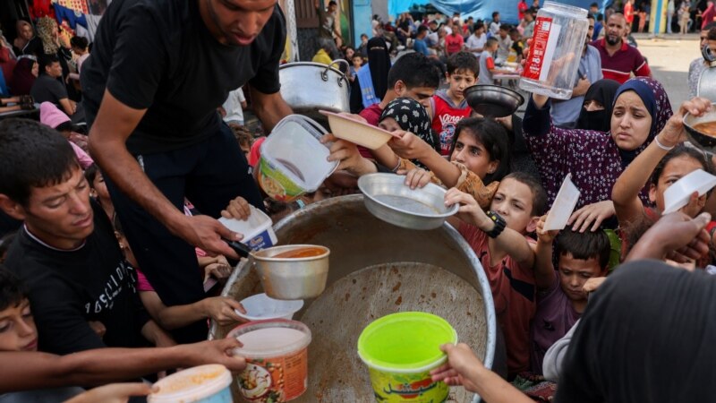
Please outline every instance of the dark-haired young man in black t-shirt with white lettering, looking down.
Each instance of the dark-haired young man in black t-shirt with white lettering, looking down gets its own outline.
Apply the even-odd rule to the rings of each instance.
[[[0,208],[24,221],[4,264],[29,287],[42,351],[173,343],[141,306],[134,269],[60,133],[0,123]],[[89,321],[105,326],[104,337]]]

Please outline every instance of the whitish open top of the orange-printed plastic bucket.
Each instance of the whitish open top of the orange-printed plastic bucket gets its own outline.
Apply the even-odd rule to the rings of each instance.
[[[273,319],[251,322],[231,330],[226,338],[236,338],[243,347],[234,348],[234,354],[246,358],[288,356],[311,344],[311,330],[298,321]]]

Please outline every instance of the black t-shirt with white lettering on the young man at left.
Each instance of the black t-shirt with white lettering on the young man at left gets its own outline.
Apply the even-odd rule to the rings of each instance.
[[[136,274],[104,210],[95,202],[92,209],[95,229],[80,248],[52,248],[23,227],[8,251],[5,266],[30,290],[40,351],[62,355],[146,345],[141,327],[149,315],[137,294]],[[88,321],[105,325],[104,338]]]

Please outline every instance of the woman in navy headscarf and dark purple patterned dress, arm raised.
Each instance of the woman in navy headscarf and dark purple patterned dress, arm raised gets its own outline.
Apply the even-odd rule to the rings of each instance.
[[[671,104],[661,82],[635,77],[615,96],[609,133],[560,129],[550,122],[550,101],[533,94],[524,112],[524,139],[540,169],[550,205],[567,174],[580,190],[579,210],[568,225],[598,227],[614,215],[611,188],[671,117]],[[647,189],[639,197],[649,201]],[[594,226],[592,226],[594,223]]]

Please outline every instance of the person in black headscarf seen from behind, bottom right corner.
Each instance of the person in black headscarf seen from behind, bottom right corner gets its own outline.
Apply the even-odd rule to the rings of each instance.
[[[590,298],[557,402],[714,401],[716,277],[660,261],[622,265]]]

